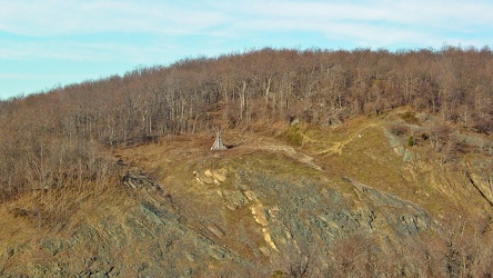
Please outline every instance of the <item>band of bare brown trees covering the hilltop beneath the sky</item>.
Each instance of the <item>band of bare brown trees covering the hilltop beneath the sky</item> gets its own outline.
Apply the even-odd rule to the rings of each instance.
[[[492,88],[489,48],[262,49],[137,69],[1,101],[0,196],[104,183],[102,148],[220,123],[331,126],[409,106],[491,132]]]

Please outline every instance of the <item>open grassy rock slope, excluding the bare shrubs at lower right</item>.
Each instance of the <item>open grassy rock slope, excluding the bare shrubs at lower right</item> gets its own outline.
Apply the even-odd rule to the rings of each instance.
[[[142,159],[151,161],[145,172],[152,175],[117,162],[124,172],[120,185],[84,199],[58,230],[30,221],[39,218],[36,210],[17,203],[2,208],[0,276],[269,277],[282,275],[279,269],[293,271],[293,266],[302,270],[310,262],[311,275],[323,277],[324,269],[332,274],[329,262],[340,260],[341,242],[349,242],[342,248],[349,260],[341,264],[351,271],[351,256],[393,258],[396,248],[423,246],[423,237],[446,239],[450,234],[440,216],[451,203],[461,205],[464,196],[491,200],[487,163],[472,163],[469,178],[450,173],[420,162],[415,149],[409,150],[400,138],[376,126],[374,130],[360,129],[354,135],[361,138],[339,143],[313,139],[312,152],[279,142],[233,148],[228,156],[211,155],[205,147],[205,155],[188,160],[182,153],[171,157],[174,147],[162,157],[152,150],[152,159]],[[388,140],[379,143],[388,152],[360,146],[376,136]],[[321,163],[322,156],[335,162]],[[369,163],[385,172],[366,170]],[[399,167],[384,168],[391,163]],[[453,187],[447,175],[459,177],[461,187]],[[442,200],[445,205],[433,207]],[[475,209],[491,208],[480,203]],[[429,250],[420,251],[429,261]],[[427,276],[420,264],[394,270]],[[445,268],[436,268],[433,275],[446,275]]]

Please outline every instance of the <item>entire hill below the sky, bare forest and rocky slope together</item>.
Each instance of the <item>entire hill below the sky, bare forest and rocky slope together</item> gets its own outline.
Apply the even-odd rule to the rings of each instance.
[[[0,275],[491,275],[492,61],[263,49],[1,101]]]

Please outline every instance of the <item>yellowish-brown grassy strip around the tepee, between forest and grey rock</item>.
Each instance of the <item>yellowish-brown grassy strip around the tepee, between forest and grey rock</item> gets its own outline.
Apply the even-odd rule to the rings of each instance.
[[[171,188],[180,183],[179,180],[190,181],[193,171],[225,167],[234,172],[235,166],[244,163],[286,179],[310,176],[338,183],[341,177],[348,177],[414,202],[439,218],[444,214],[491,214],[487,202],[457,170],[462,162],[441,165],[439,155],[429,146],[409,147],[408,136],[394,139],[411,159],[404,161],[403,155],[396,153],[395,142],[391,142],[385,132],[390,122],[399,120],[398,112],[372,119],[361,117],[338,128],[298,127],[295,132],[303,138],[302,146],[298,146],[298,141],[291,145],[291,138],[282,130],[276,136],[230,131],[224,139],[239,146],[221,153],[208,150],[212,135],[183,136],[120,153],[137,158],[135,165],[158,172],[158,178]],[[481,159],[480,155],[475,157]],[[197,193],[195,190],[191,192]],[[344,186],[340,190],[351,193]]]

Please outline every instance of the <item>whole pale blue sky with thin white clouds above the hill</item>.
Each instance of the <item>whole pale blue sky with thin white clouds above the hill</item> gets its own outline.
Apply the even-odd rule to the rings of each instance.
[[[492,0],[0,0],[0,99],[270,48],[493,46]]]

